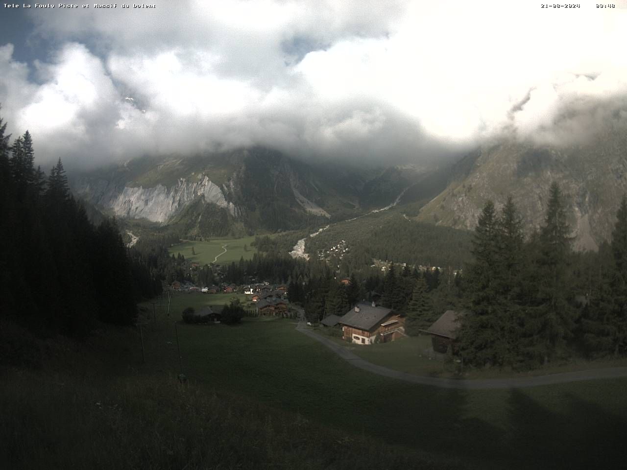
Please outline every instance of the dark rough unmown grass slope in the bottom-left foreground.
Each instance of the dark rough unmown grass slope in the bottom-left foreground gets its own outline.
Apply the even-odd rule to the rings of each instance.
[[[55,343],[43,370],[2,371],[0,468],[463,468],[193,379],[180,384],[173,373],[139,370],[125,364],[116,341]]]

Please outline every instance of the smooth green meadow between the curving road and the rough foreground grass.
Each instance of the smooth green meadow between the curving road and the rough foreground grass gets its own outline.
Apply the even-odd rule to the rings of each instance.
[[[176,370],[172,334],[166,327],[146,338],[148,368]],[[350,367],[287,320],[180,325],[179,338],[184,372],[218,392],[472,467],[582,467],[627,456],[627,379],[483,391],[406,384]]]

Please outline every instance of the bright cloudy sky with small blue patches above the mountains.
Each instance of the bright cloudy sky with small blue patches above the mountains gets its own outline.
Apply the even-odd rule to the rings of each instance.
[[[627,122],[627,0],[154,1],[0,4],[0,117],[38,162],[265,145],[411,163]]]

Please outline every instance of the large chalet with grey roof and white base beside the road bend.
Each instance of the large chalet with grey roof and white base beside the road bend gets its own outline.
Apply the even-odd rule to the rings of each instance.
[[[357,344],[372,344],[377,338],[381,342],[394,341],[405,335],[404,318],[374,302],[358,303],[338,323],[342,325],[344,340]]]

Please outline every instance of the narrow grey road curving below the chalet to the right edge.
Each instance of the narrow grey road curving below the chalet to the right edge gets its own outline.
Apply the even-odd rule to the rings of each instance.
[[[579,382],[581,380],[615,379],[617,377],[627,377],[627,367],[612,367],[594,370],[580,370],[578,372],[555,373],[552,375],[539,375],[537,377],[517,377],[512,379],[439,379],[438,377],[423,377],[407,372],[400,372],[391,368],[367,362],[361,357],[347,350],[347,348],[322,337],[307,328],[307,323],[303,313],[299,312],[299,323],[296,329],[310,338],[324,344],[327,348],[335,352],[339,357],[348,361],[351,365],[376,373],[391,379],[404,380],[413,384],[432,385],[443,389],[466,389],[466,390],[487,390],[487,389],[522,389],[524,387],[537,387],[538,385],[564,384],[565,382]]]

